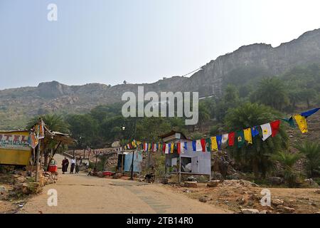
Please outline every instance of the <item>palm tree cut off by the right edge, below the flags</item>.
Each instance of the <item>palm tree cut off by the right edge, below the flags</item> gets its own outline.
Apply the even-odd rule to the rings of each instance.
[[[320,174],[320,144],[319,142],[303,142],[295,146],[301,152],[306,161],[304,168],[308,177]]]

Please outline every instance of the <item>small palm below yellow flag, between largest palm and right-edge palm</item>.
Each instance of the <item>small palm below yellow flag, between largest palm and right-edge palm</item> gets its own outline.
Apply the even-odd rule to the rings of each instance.
[[[289,187],[295,187],[297,184],[298,172],[294,170],[294,165],[302,157],[299,153],[292,152],[277,152],[277,154],[272,155],[274,161],[279,162],[283,168],[284,180],[287,181]]]

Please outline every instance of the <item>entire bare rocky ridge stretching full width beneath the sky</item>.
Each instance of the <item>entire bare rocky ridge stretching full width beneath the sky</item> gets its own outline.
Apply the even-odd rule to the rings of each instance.
[[[96,105],[121,101],[124,92],[137,92],[137,86],[144,86],[145,93],[198,91],[200,95],[220,95],[226,78],[231,73],[239,78],[240,69],[244,67],[275,76],[308,63],[320,63],[320,29],[308,31],[276,48],[263,43],[242,46],[210,61],[190,78],[174,76],[156,83],[117,86],[99,83],[66,86],[53,81],[37,87],[0,90],[0,129],[23,128],[32,115],[84,113]]]

